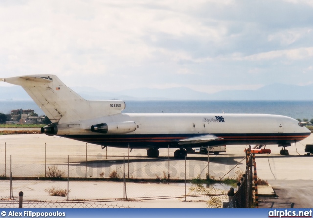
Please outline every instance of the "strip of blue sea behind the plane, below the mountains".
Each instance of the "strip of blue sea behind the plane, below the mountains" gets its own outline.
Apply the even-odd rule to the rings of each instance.
[[[313,119],[313,101],[125,101],[122,113],[264,113]],[[0,113],[33,109],[44,112],[33,101],[0,101]]]

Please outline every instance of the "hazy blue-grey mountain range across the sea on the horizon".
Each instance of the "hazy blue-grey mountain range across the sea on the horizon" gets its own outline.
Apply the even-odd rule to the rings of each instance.
[[[214,94],[186,87],[137,88],[118,92],[99,91],[92,87],[71,87],[88,100],[313,100],[313,85],[271,84],[257,90],[228,90]],[[1,87],[0,100],[31,100],[20,86]]]

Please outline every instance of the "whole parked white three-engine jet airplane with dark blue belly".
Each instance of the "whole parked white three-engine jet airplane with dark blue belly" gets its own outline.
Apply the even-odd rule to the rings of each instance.
[[[106,146],[147,149],[158,157],[160,148],[177,148],[183,159],[193,147],[278,144],[286,147],[311,132],[299,121],[281,115],[226,113],[122,113],[120,100],[88,101],[56,75],[25,75],[1,79],[20,85],[51,120],[41,133]]]

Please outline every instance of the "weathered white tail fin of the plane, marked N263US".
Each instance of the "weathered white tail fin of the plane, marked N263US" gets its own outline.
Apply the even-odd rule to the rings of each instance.
[[[2,79],[20,85],[52,123],[70,123],[121,113],[123,101],[88,101],[56,75],[28,75]]]

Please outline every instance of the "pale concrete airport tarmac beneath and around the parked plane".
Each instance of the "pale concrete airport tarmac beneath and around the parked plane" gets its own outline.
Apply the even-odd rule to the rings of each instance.
[[[6,146],[4,146],[5,143]],[[46,150],[45,143],[47,144]],[[284,205],[285,202],[286,207],[289,207],[290,202],[294,203],[294,207],[298,208],[313,207],[312,201],[306,200],[311,199],[313,195],[313,187],[311,186],[313,174],[309,170],[313,156],[306,156],[304,152],[305,145],[311,143],[313,143],[313,135],[293,144],[287,148],[290,153],[289,156],[280,155],[279,151],[281,148],[277,145],[267,146],[267,148],[272,150],[271,154],[256,154],[258,177],[268,180],[274,190],[278,187],[277,190],[280,193],[278,198],[263,199],[264,205],[269,205],[270,203],[268,202],[275,200],[277,202],[276,205]],[[210,155],[210,175],[219,178],[226,174],[245,157],[245,147],[247,146],[227,146],[226,153]],[[0,174],[4,174],[4,158],[2,157],[5,156],[6,152],[6,174],[9,172],[10,156],[12,156],[13,176],[36,177],[45,175],[45,151],[47,151],[48,165],[58,165],[60,169],[64,169],[66,174],[67,155],[70,156],[70,167],[72,169],[70,170],[70,177],[99,177],[99,172],[104,171],[108,175],[112,169],[121,170],[124,166],[123,156],[126,157],[126,163],[128,163],[128,149],[109,147],[101,150],[101,147],[98,145],[88,144],[88,160],[86,164],[86,143],[42,134],[2,135],[0,136]],[[173,158],[174,151],[175,149],[170,149],[170,177],[183,179],[185,174],[184,160],[175,160]],[[130,156],[130,167],[128,168],[126,164],[126,172],[130,173],[131,178],[156,178],[156,174],[162,178],[164,172],[168,173],[167,149],[160,149],[160,158],[147,158],[145,149],[133,149],[130,152]],[[135,158],[134,156],[139,156],[140,158]],[[195,178],[198,175],[205,177],[208,171],[207,161],[207,155],[188,154],[186,161],[187,179]],[[244,170],[244,161],[239,163],[235,169]],[[227,174],[226,177],[235,176],[235,169],[230,174]],[[44,191],[46,187],[52,185],[67,187],[67,182],[13,180],[15,195],[19,191],[24,191],[25,199],[29,200],[34,200],[34,198],[38,198],[38,200],[59,200],[58,197],[49,196]],[[7,198],[9,196],[8,190],[9,180],[0,180],[0,198]],[[123,183],[70,181],[70,190],[69,197],[71,200],[121,199]],[[182,184],[127,183],[127,194],[131,198],[142,196],[181,196],[184,195],[184,190],[184,185]],[[289,195],[290,193],[292,193],[291,196]],[[284,194],[286,194],[285,197],[283,197]],[[61,199],[64,200],[64,198]],[[183,202],[184,198],[180,197],[177,199],[127,201],[127,205],[136,208],[203,208],[206,200],[206,198],[187,198],[187,202]],[[279,200],[282,200],[283,203],[279,202]],[[271,203],[270,205],[273,204]]]

